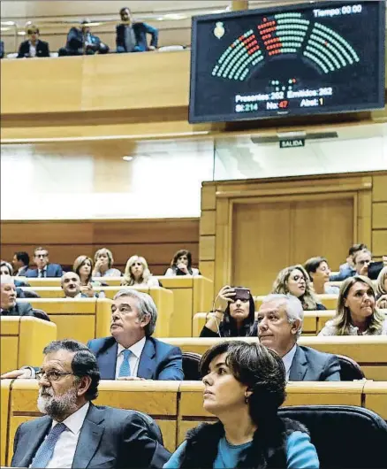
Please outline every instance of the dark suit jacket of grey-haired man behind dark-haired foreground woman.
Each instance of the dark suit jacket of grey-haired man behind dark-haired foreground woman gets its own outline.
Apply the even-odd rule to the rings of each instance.
[[[336,355],[297,345],[289,381],[340,381]]]

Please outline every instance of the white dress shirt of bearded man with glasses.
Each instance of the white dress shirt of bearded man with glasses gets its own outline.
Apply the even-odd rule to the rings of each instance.
[[[82,405],[78,411],[72,413],[72,415],[63,421],[67,429],[65,432],[60,434],[57,440],[54,452],[49,464],[47,465],[48,468],[54,469],[57,467],[63,467],[64,469],[67,469],[72,467],[72,460],[80,438],[80,429],[83,426],[89,406],[89,403]],[[57,423],[58,422],[56,420],[53,420],[52,427],[55,427]]]

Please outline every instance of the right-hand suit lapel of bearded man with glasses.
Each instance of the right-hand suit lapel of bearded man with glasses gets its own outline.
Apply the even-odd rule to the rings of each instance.
[[[72,460],[72,467],[86,468],[98,450],[105,427],[104,410],[97,409],[93,404],[87,411],[85,421],[80,429],[80,438]]]

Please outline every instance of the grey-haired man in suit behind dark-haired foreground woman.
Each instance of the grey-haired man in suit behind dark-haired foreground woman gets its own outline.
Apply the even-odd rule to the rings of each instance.
[[[296,296],[266,296],[258,311],[260,342],[282,357],[288,381],[340,381],[335,355],[297,344],[304,311]]]

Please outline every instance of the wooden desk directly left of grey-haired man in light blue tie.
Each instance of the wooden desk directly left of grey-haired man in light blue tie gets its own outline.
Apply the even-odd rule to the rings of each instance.
[[[72,338],[86,343],[95,339],[96,298],[21,298],[33,308],[49,314],[57,325],[57,338]]]

